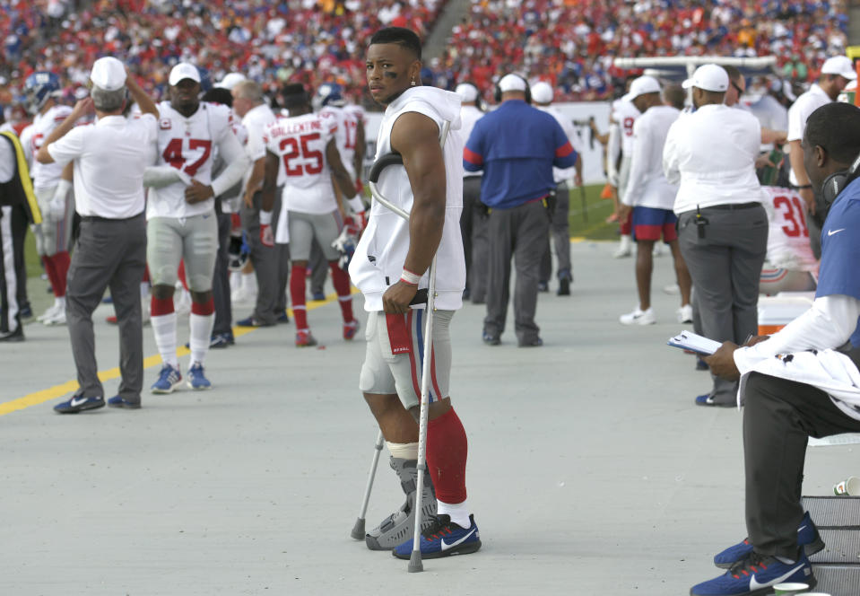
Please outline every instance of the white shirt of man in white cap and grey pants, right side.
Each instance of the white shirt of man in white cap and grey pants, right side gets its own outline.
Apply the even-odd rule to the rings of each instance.
[[[697,206],[760,203],[755,175],[761,125],[746,110],[708,104],[674,121],[666,136],[663,171],[679,184],[674,212]]]

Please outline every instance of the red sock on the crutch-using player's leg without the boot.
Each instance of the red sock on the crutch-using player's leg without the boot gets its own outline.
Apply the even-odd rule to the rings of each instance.
[[[465,501],[465,460],[469,443],[454,408],[427,424],[427,469],[436,498],[442,503]]]

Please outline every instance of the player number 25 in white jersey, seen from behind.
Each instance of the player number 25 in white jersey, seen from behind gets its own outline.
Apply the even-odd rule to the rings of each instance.
[[[308,328],[305,308],[305,277],[310,247],[315,239],[332,272],[332,285],[343,314],[343,338],[352,339],[358,330],[358,321],[352,316],[350,278],[338,266],[340,254],[332,247],[343,227],[333,181],[343,197],[348,199],[355,197],[355,182],[337,151],[334,139],[337,127],[332,118],[313,113],[308,92],[301,84],[284,86],[282,96],[290,117],[279,118],[266,127],[264,133],[263,209],[269,211],[274,205],[274,189],[282,162],[286,183],[275,241],[290,241],[290,297],[297,329],[296,346],[314,346],[317,343]]]

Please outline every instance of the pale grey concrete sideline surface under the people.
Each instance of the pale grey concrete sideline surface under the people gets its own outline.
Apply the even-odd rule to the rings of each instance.
[[[636,298],[633,262],[614,248],[574,245],[573,295],[541,295],[543,347],[517,348],[512,330],[484,346],[482,307],[454,319],[478,553],[407,574],[349,538],[376,431],[356,389],[363,342],[340,339],[328,303],[308,313],[325,349],[292,346],[292,324],[257,329],[209,355],[211,391],[146,394],[138,411],[59,416],[51,399],[0,416],[0,593],[686,594],[745,535],[741,416],[694,406],[708,377],[665,346],[682,329],[661,290],[668,256],[655,259],[659,322],[618,323]],[[102,321],[107,369],[117,330]],[[0,402],[74,379],[65,328],[26,333],[0,346]],[[852,450],[810,450],[804,493],[856,475]],[[385,460],[368,527],[402,502]]]

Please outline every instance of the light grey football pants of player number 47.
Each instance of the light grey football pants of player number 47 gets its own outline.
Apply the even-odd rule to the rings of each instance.
[[[185,260],[188,287],[212,289],[218,253],[215,212],[193,217],[152,217],[146,223],[146,263],[152,285],[175,285],[179,261]]]

